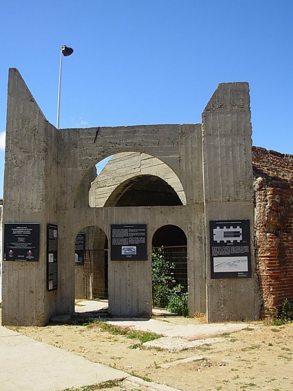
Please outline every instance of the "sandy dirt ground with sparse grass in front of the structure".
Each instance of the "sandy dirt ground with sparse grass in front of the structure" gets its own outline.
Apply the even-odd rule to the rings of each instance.
[[[197,319],[159,318],[184,325]],[[250,323],[251,324],[251,323]],[[86,359],[121,369],[142,379],[184,391],[293,390],[293,324],[271,326],[253,322],[242,331],[222,334],[220,342],[180,352],[145,349],[139,340],[113,335],[99,325],[49,325],[14,327],[37,341],[79,354]],[[162,368],[179,359],[196,361]],[[111,391],[145,391],[151,388],[117,383]]]

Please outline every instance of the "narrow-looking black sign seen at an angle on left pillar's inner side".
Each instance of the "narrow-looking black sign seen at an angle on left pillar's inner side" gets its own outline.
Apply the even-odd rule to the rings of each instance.
[[[47,224],[47,289],[57,289],[57,240],[58,227]]]

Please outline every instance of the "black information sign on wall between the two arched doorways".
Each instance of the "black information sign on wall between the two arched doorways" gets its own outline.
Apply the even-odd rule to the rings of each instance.
[[[112,224],[111,261],[146,259],[146,224]]]

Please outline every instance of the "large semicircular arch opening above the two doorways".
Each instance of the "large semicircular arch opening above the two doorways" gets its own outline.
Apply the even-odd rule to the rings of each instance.
[[[91,182],[89,205],[186,205],[178,176],[160,159],[142,152],[119,152]]]

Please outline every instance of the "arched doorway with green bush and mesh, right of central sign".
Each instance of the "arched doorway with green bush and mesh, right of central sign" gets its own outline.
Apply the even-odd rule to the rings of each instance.
[[[176,225],[165,225],[153,235],[152,299],[154,307],[185,315],[174,305],[188,305],[187,238]]]

